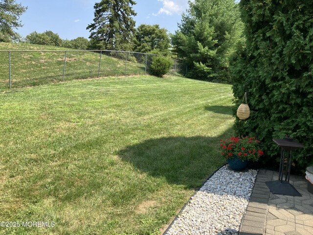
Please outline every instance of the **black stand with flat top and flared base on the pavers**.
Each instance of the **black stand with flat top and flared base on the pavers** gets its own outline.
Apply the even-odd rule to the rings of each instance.
[[[270,192],[273,194],[301,197],[301,194],[289,183],[289,180],[291,171],[292,151],[298,148],[303,148],[304,145],[297,141],[293,141],[291,138],[288,137],[284,139],[273,139],[273,141],[277,143],[279,146],[281,146],[279,178],[278,180],[275,181],[265,182],[265,184],[268,186]],[[285,154],[287,154],[286,167],[285,167]],[[286,168],[285,180],[283,180],[284,168]]]

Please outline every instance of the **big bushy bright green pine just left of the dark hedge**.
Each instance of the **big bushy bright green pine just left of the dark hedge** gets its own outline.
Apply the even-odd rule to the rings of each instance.
[[[172,36],[174,52],[188,64],[188,77],[228,79],[228,59],[242,37],[243,24],[235,0],[189,1],[179,30]]]

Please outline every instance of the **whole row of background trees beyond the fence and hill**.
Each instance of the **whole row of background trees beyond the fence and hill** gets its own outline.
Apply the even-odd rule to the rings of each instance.
[[[93,22],[87,26],[89,40],[83,37],[63,40],[57,33],[47,30],[32,32],[22,42],[74,49],[156,53],[185,61],[188,73],[184,75],[187,77],[229,81],[229,58],[238,43],[244,41],[235,0],[190,1],[174,34],[158,24],[141,24],[136,28],[134,4],[134,0],[96,2]],[[26,10],[27,7],[15,0],[0,0],[0,42],[19,41],[14,30],[22,26],[19,17]]]

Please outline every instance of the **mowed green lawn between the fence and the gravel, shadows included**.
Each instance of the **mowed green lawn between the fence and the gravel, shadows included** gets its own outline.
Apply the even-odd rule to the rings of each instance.
[[[0,234],[156,235],[224,163],[231,87],[108,77],[0,93]]]

